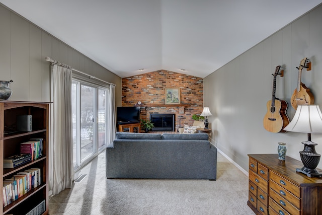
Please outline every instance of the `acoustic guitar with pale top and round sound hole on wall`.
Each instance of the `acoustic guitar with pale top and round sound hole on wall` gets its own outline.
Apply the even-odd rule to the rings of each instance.
[[[290,123],[286,115],[287,102],[279,100],[275,97],[276,77],[279,75],[283,77],[284,75],[284,70],[281,70],[281,72],[279,73],[280,68],[280,65],[276,66],[275,73],[272,74],[274,76],[272,100],[266,103],[267,112],[263,120],[264,128],[273,133],[287,132],[286,130],[284,130],[284,128]]]

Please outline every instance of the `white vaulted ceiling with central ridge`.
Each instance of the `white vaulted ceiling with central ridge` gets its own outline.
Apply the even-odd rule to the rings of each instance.
[[[321,2],[0,0],[121,78],[159,69],[204,78]]]

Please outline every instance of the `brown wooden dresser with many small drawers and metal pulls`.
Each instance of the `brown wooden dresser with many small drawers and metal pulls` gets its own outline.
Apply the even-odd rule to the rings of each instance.
[[[301,161],[278,154],[249,156],[249,199],[256,214],[322,214],[322,178],[297,173]],[[319,170],[320,171],[320,170]]]

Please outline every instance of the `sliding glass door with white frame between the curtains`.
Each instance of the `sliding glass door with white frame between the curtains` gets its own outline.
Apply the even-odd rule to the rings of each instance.
[[[106,148],[108,89],[73,80],[73,164],[74,169],[92,160]]]

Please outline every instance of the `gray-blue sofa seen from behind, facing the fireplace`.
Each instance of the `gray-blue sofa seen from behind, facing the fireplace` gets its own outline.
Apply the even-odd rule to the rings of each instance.
[[[106,149],[106,177],[216,180],[217,149],[207,133],[117,132]]]

